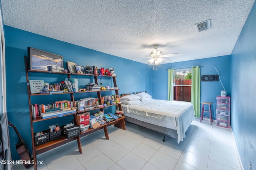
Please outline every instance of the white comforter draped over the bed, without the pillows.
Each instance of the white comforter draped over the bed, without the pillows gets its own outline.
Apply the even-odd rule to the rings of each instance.
[[[178,143],[186,137],[185,132],[194,120],[194,107],[190,102],[164,101],[152,99],[136,105],[124,105],[125,112],[144,117],[154,117],[174,124],[178,133]]]

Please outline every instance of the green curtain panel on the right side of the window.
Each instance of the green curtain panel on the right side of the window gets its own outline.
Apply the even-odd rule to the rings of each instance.
[[[191,103],[195,109],[195,117],[200,117],[200,67],[192,67]]]

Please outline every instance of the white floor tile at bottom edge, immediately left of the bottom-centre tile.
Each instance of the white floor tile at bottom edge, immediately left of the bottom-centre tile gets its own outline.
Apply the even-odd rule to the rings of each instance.
[[[107,170],[115,164],[110,158],[105,154],[100,154],[84,164],[86,170]]]

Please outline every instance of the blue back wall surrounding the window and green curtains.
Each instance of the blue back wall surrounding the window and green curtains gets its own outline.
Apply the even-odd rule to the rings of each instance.
[[[230,55],[225,55],[220,57],[168,63],[157,66],[157,70],[152,71],[152,97],[154,99],[167,100],[168,71],[166,69],[187,68],[197,65],[203,66],[200,68],[201,75],[218,75],[218,72],[213,67],[214,65],[220,73],[222,84],[224,85],[228,96],[230,95]],[[216,97],[220,95],[222,90],[224,89],[220,81],[201,81],[200,101],[212,102],[213,119],[216,119]],[[200,108],[202,108],[202,105]]]

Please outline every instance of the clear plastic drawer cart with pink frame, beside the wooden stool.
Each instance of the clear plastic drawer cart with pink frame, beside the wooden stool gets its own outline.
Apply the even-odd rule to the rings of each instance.
[[[216,125],[230,128],[230,97],[217,96]]]

